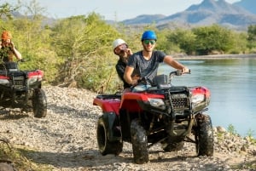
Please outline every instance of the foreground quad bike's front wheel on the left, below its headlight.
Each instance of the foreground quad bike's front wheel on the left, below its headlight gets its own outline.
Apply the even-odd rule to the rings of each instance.
[[[148,162],[148,136],[137,119],[131,122],[131,144],[134,162],[137,164]]]

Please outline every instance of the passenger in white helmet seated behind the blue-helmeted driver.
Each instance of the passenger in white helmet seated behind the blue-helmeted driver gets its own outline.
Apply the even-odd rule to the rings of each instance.
[[[130,90],[130,84],[125,82],[124,73],[125,67],[127,65],[128,58],[131,56],[131,48],[128,48],[128,44],[121,38],[118,38],[113,41],[113,53],[119,56],[119,60],[115,65],[115,69],[118,73],[119,78],[123,81],[124,91]],[[135,79],[136,76],[132,77]]]

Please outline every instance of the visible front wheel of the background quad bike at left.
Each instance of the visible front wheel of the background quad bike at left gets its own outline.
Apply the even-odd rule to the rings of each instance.
[[[34,117],[46,117],[47,114],[47,100],[44,90],[37,88],[32,94],[32,108]]]

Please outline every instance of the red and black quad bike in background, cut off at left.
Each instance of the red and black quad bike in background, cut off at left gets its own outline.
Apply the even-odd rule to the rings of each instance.
[[[5,62],[0,67],[0,106],[32,109],[34,117],[45,117],[47,100],[42,87],[44,71],[21,71],[17,62]]]

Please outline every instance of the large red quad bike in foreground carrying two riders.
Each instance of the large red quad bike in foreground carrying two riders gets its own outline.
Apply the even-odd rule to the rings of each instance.
[[[195,143],[197,156],[213,155],[211,117],[203,114],[210,91],[201,86],[173,86],[180,71],[154,78],[143,92],[99,94],[93,101],[102,108],[96,138],[102,155],[119,155],[123,142],[132,145],[134,161],[148,162],[148,149],[159,143],[163,151],[179,151]]]

